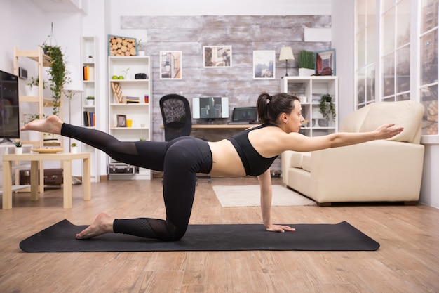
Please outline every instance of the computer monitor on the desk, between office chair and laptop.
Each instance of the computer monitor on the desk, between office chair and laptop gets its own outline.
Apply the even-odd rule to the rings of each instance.
[[[229,118],[229,98],[201,97],[192,99],[194,119]]]

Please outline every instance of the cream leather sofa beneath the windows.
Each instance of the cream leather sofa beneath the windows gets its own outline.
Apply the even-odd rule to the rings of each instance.
[[[282,154],[283,183],[320,205],[331,202],[406,202],[419,200],[424,145],[424,106],[414,101],[379,102],[356,110],[339,131],[373,131],[395,123],[404,131],[389,140],[369,141],[314,152]]]

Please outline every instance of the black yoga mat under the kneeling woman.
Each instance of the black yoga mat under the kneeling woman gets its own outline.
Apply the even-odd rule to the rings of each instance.
[[[123,234],[88,240],[75,235],[87,226],[62,220],[20,242],[25,252],[168,252],[226,250],[377,250],[379,243],[346,221],[291,224],[295,232],[273,233],[261,224],[189,225],[180,241],[163,242]]]

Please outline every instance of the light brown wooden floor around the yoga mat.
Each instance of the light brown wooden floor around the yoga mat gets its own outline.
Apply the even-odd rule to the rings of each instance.
[[[200,180],[191,223],[260,223],[259,207],[222,208],[212,190],[243,184],[257,181]],[[13,209],[0,210],[0,292],[439,292],[439,210],[421,205],[273,207],[278,223],[348,221],[381,244],[376,252],[22,252],[21,240],[62,219],[164,215],[161,179],[92,183],[89,202],[73,188],[72,209],[62,209],[55,189],[37,202],[20,193]]]

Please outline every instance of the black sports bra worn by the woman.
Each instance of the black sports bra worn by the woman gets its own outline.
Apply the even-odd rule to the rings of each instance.
[[[269,169],[271,164],[273,164],[274,160],[278,157],[262,157],[262,155],[260,155],[259,152],[253,148],[253,145],[248,140],[248,133],[250,131],[269,126],[276,125],[262,124],[252,129],[241,131],[229,138],[229,141],[232,145],[234,145],[239,157],[241,158],[241,161],[243,162],[245,174],[247,175],[259,176],[263,174],[267,169]]]

